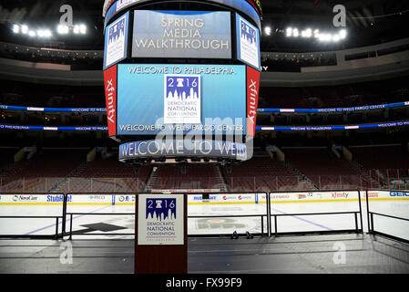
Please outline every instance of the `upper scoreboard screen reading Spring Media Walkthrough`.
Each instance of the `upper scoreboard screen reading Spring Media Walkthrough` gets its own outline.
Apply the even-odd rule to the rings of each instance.
[[[132,57],[231,58],[230,12],[136,10]]]

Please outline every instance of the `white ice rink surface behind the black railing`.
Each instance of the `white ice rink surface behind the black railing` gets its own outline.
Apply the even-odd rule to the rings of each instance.
[[[409,219],[409,201],[373,201],[370,211]],[[135,205],[67,205],[66,231],[72,226],[73,238],[132,238],[135,226]],[[189,235],[230,235],[232,232],[244,234],[261,233],[261,216],[264,232],[267,232],[266,203],[203,203],[189,204],[188,216],[203,216],[188,219]],[[336,231],[355,228],[354,214],[314,214],[359,212],[357,201],[313,202],[313,203],[271,203],[271,215],[277,214],[277,232]],[[362,202],[363,231],[368,231],[366,202]],[[71,222],[71,213],[72,222]],[[249,216],[245,215],[256,215]],[[300,215],[304,214],[304,215]],[[0,216],[32,215],[61,216],[62,203],[55,205],[2,205]],[[226,217],[240,215],[244,217]],[[207,218],[206,216],[212,216]],[[213,217],[215,216],[215,217]],[[271,217],[271,232],[274,234],[274,219]],[[357,214],[358,227],[361,218]],[[392,218],[373,216],[375,230],[409,240],[409,222]],[[58,221],[61,233],[62,220]],[[0,218],[1,235],[54,235],[55,218]],[[104,235],[104,234],[118,235]],[[99,234],[99,235],[95,235]]]

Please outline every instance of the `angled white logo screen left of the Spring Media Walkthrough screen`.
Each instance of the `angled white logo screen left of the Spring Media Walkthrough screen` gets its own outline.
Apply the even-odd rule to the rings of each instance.
[[[129,12],[105,30],[104,70],[128,57]]]

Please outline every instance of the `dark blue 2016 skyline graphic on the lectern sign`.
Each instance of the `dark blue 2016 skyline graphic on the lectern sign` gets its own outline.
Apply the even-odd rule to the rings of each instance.
[[[175,199],[147,199],[147,217],[157,221],[176,219]]]

